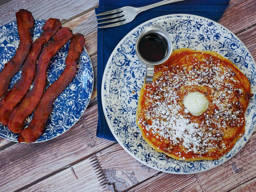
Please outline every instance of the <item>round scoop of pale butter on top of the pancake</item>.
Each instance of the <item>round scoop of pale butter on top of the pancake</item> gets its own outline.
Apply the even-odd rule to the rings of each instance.
[[[200,92],[190,92],[184,97],[183,104],[187,110],[195,116],[199,116],[208,108],[208,100]]]

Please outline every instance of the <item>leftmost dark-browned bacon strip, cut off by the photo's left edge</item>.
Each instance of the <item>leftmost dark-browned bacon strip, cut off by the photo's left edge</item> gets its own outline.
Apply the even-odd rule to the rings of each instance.
[[[4,68],[0,73],[0,98],[8,90],[10,80],[13,75],[20,70],[20,67],[27,57],[32,44],[32,36],[30,33],[31,28],[34,27],[34,18],[32,13],[25,9],[20,9],[20,11],[16,12],[16,20],[20,43],[15,55],[6,64],[4,64]]]

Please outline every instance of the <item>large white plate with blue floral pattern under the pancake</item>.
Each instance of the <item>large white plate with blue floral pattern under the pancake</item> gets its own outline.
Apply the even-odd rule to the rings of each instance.
[[[143,29],[155,24],[170,34],[173,49],[211,50],[231,60],[248,77],[254,94],[255,62],[244,44],[228,29],[212,20],[186,14],[166,15],[141,24],[118,43],[108,60],[102,81],[102,104],[108,126],[119,144],[132,157],[159,171],[188,174],[210,170],[233,157],[252,135],[256,121],[255,97],[250,100],[245,113],[245,134],[223,157],[211,161],[179,161],[153,150],[136,125],[138,94],[146,66],[136,55],[135,41]]]

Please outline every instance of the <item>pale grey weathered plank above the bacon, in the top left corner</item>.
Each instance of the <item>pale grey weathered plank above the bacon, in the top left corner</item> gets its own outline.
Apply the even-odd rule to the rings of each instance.
[[[19,9],[27,9],[32,12],[35,19],[49,19],[58,18],[62,23],[81,15],[82,13],[88,12],[97,7],[99,4],[95,0],[87,0],[86,3],[80,0],[55,0],[45,1],[37,0],[12,0],[0,6],[0,26],[16,20],[15,12]]]

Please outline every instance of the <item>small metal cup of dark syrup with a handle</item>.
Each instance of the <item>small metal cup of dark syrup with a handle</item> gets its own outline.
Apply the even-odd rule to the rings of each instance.
[[[172,53],[172,40],[167,31],[152,25],[144,29],[135,43],[135,50],[140,61],[147,65],[145,82],[152,83],[154,66],[164,63]]]

